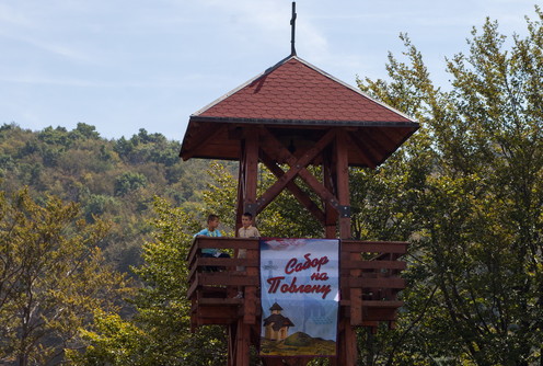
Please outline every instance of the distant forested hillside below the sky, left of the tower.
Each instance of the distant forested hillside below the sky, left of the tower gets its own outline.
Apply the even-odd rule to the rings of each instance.
[[[181,145],[140,129],[130,138],[107,140],[94,126],[47,127],[39,131],[15,124],[0,127],[0,186],[8,194],[28,186],[44,202],[55,195],[80,205],[83,216],[111,220],[104,240],[108,261],[120,271],[139,263],[149,232],[153,196],[175,206],[196,207],[209,182],[209,161],[182,162]]]

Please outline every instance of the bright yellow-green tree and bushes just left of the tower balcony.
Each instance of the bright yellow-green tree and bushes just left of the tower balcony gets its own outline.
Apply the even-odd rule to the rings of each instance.
[[[96,329],[83,333],[89,342],[85,353],[70,353],[74,365],[223,363],[222,329],[207,327],[194,334],[189,332],[185,259],[199,224],[190,214],[161,198],[155,199],[154,210],[154,239],[143,247],[145,263],[134,268],[142,281],[134,299],[135,317],[123,320],[115,313],[96,312]]]

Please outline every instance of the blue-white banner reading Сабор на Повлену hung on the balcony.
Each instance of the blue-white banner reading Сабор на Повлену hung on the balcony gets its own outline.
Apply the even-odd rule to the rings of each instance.
[[[261,356],[335,356],[339,240],[261,239]]]

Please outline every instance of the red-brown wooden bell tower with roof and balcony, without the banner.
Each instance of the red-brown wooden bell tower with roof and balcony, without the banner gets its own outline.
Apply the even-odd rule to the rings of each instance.
[[[405,262],[398,259],[407,243],[351,240],[349,167],[378,167],[417,128],[408,116],[302,60],[296,52],[189,118],[180,153],[183,160],[240,162],[238,227],[242,213],[257,216],[288,190],[323,225],[326,238],[342,239],[338,355],[332,357],[333,365],[356,364],[356,327],[376,328],[380,321],[393,327],[402,306],[396,294],[405,287],[400,278]],[[258,196],[259,164],[277,181]],[[322,167],[322,176],[313,175],[310,165]],[[297,178],[320,202],[297,185]],[[203,248],[246,249],[247,258],[203,259]],[[362,254],[371,254],[371,260]],[[196,238],[187,259],[193,327],[228,328],[231,366],[249,366],[250,345],[259,343],[258,255],[255,239]],[[201,271],[213,264],[232,271],[228,276]],[[245,271],[240,273],[236,266]],[[240,286],[244,298],[232,298],[230,294]],[[305,365],[309,359],[263,362]]]

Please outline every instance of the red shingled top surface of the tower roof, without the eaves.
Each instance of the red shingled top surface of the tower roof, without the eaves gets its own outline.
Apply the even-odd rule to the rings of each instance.
[[[290,56],[192,116],[336,123],[408,123],[381,104],[307,61]]]

